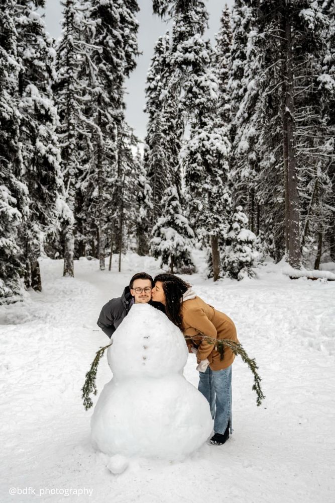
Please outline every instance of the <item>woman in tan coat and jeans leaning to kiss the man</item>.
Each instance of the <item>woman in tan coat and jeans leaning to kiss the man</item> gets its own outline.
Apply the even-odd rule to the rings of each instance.
[[[154,279],[152,300],[161,302],[169,319],[177,325],[187,340],[189,352],[195,353],[199,371],[199,391],[210,405],[214,419],[211,444],[222,445],[232,433],[232,363],[235,355],[225,347],[224,358],[211,339],[230,339],[238,342],[234,322],[195,295],[188,283],[173,274],[159,274]]]

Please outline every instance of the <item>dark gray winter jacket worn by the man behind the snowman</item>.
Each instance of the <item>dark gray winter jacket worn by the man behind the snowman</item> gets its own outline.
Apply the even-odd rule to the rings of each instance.
[[[118,328],[124,317],[129,313],[129,310],[132,307],[132,299],[133,297],[130,293],[129,286],[126,286],[121,297],[108,300],[108,302],[102,307],[99,319],[96,323],[109,337],[109,339],[113,336],[113,333]],[[156,309],[165,312],[165,308],[160,302],[153,302],[151,300],[149,304],[156,307]]]

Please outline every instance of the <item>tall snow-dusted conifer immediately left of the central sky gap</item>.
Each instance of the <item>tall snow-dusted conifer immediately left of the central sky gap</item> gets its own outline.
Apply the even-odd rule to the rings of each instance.
[[[133,0],[103,3],[90,0],[85,6],[89,7],[86,17],[92,28],[84,71],[90,88],[94,90],[87,107],[93,127],[89,183],[85,191],[85,199],[91,201],[92,206],[86,205],[86,213],[91,221],[96,221],[100,269],[104,269],[105,246],[114,206],[110,184],[115,179],[120,182],[116,175],[119,162],[116,152],[120,131],[122,141],[127,132],[127,127],[123,126],[124,82],[135,68],[138,55],[138,22],[135,17],[138,5]],[[120,194],[116,196],[120,198]]]

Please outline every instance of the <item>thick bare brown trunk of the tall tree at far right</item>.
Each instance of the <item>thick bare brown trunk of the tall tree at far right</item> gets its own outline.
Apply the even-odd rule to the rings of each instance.
[[[295,159],[295,122],[293,103],[293,69],[292,69],[292,37],[290,13],[285,9],[282,13],[285,25],[285,95],[283,97],[285,110],[283,114],[284,132],[284,157],[287,156],[286,165],[287,181],[285,181],[285,222],[288,225],[288,262],[294,269],[301,267],[300,232],[299,232],[299,197],[298,180]],[[286,127],[286,131],[285,131]],[[285,227],[286,228],[286,227]]]

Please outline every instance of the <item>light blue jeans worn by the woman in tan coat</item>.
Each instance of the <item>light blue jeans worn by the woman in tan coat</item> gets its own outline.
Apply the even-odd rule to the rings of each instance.
[[[199,372],[198,390],[210,405],[214,433],[224,434],[230,421],[232,433],[232,366],[224,370]]]

